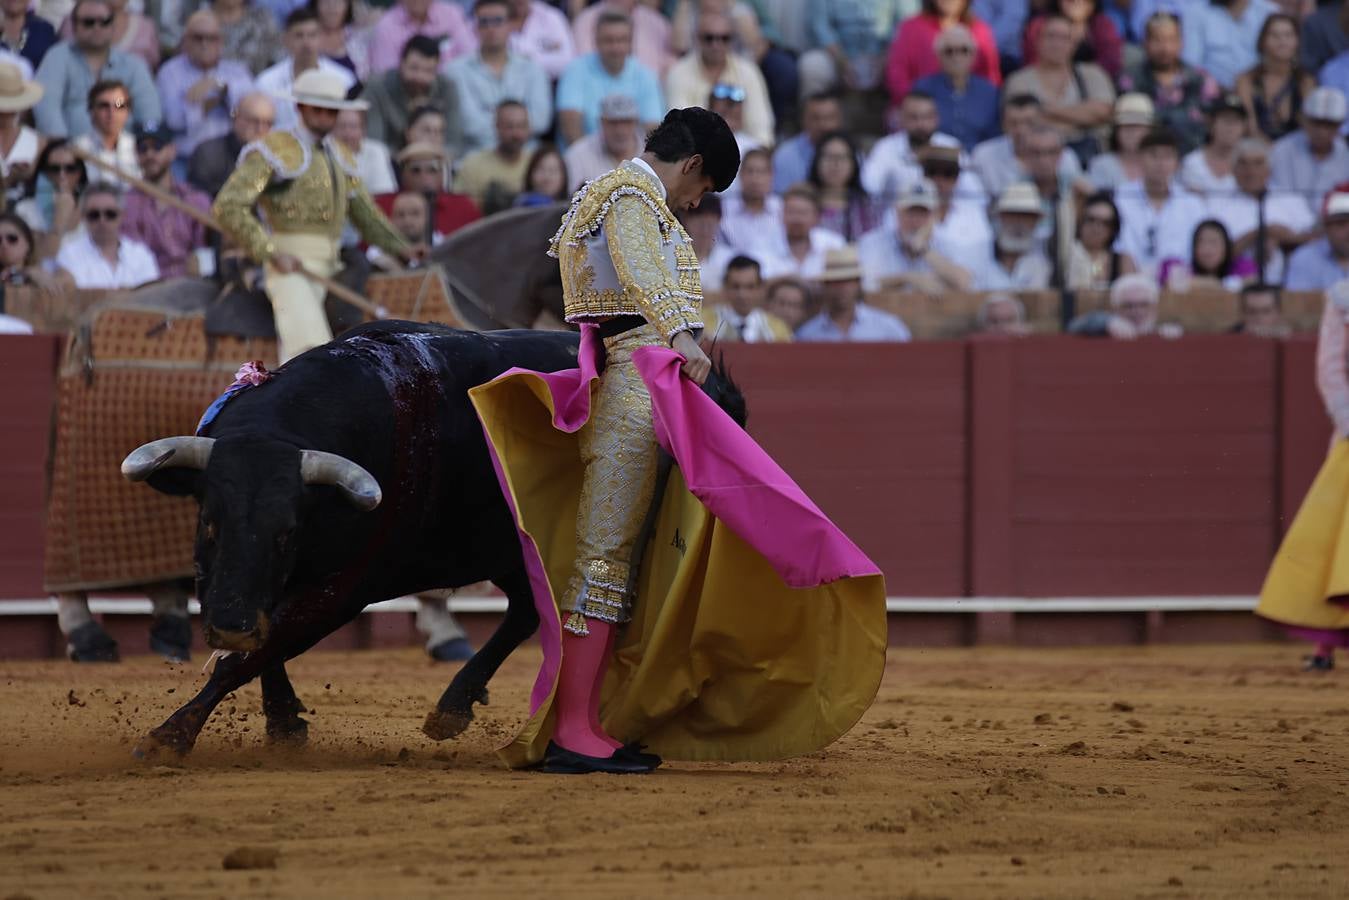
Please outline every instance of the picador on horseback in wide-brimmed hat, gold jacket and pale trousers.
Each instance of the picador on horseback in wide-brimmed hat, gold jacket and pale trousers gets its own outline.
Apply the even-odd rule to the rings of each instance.
[[[351,151],[331,136],[340,111],[364,108],[363,101],[345,99],[345,84],[313,69],[295,78],[290,100],[299,123],[244,147],[239,167],[216,197],[221,229],[263,263],[281,362],[332,340],[325,290],[301,270],[336,274],[348,217],[368,243],[405,262],[426,254],[425,246],[410,246],[394,231],[366,193]],[[254,213],[255,205],[271,233]]]

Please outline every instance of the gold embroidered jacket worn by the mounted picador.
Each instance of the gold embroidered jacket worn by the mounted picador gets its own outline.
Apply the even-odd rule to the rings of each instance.
[[[360,182],[351,151],[331,135],[310,142],[304,132],[274,131],[239,152],[213,208],[225,233],[267,262],[277,248],[254,215],[258,205],[272,233],[325,235],[336,247],[349,216],[368,243],[390,254],[406,250]]]

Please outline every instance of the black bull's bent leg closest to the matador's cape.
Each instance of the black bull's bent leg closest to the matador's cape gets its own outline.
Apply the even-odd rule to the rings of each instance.
[[[534,592],[523,565],[510,575],[494,578],[492,584],[506,594],[506,615],[426,715],[422,731],[434,741],[457,737],[468,727],[473,721],[473,703],[487,703],[487,683],[496,669],[538,627]]]

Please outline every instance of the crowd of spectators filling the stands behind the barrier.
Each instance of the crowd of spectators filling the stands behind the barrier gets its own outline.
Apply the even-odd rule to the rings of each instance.
[[[210,275],[206,229],[86,158],[209,209],[317,67],[368,101],[335,135],[430,244],[564,201],[669,108],[722,113],[741,174],[684,215],[716,340],[907,340],[878,290],[986,293],[1013,335],[1018,291],[1101,291],[1070,331],[1113,336],[1225,290],[1275,333],[1282,290],[1349,274],[1342,5],[0,0],[0,275]]]

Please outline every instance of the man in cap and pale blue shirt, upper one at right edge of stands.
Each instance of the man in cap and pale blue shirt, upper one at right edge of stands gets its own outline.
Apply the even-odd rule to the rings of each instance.
[[[1269,186],[1302,196],[1313,216],[1326,194],[1349,181],[1349,147],[1340,128],[1349,103],[1336,88],[1317,88],[1302,104],[1302,128],[1284,135],[1269,152]]]

